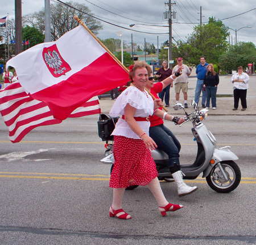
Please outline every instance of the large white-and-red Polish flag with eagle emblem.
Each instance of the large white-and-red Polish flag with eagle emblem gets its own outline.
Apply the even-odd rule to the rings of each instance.
[[[15,68],[26,93],[61,120],[93,96],[130,81],[127,69],[82,26],[27,49],[6,65]]]

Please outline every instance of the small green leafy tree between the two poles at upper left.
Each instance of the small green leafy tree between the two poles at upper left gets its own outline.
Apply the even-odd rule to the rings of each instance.
[[[22,39],[30,41],[30,47],[43,43],[44,35],[35,27],[26,26],[22,28]]]

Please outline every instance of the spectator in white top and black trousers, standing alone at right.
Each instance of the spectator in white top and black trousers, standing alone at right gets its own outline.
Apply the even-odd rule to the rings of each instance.
[[[247,108],[246,94],[247,89],[249,89],[250,77],[245,72],[243,72],[243,67],[238,67],[237,70],[238,72],[236,74],[233,74],[231,78],[234,90],[233,110],[237,110],[239,99],[241,99],[242,111],[245,111]]]

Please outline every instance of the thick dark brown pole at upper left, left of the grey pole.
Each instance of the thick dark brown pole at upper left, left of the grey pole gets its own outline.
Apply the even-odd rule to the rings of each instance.
[[[22,1],[15,0],[15,55],[22,52]],[[9,58],[9,55],[8,55]]]

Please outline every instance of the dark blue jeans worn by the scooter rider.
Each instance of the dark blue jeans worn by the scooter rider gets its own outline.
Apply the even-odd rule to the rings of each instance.
[[[169,167],[173,167],[174,163],[180,165],[180,142],[169,128],[165,127],[164,124],[150,127],[150,137],[157,144],[158,149],[166,152],[169,156]]]

